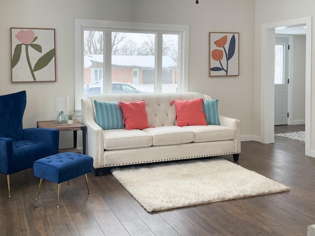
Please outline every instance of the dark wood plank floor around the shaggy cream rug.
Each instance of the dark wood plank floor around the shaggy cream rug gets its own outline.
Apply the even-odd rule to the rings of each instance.
[[[292,127],[275,129],[292,130]],[[303,128],[303,127],[302,127]],[[232,161],[232,155],[223,156]],[[275,144],[242,142],[239,164],[290,187],[290,191],[148,213],[110,174],[62,184],[39,179],[32,169],[0,175],[0,235],[7,236],[306,236],[315,224],[315,158],[304,143],[275,137]],[[242,183],[240,183],[242,184]]]

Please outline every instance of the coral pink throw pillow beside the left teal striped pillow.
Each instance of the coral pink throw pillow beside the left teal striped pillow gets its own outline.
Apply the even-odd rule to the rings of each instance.
[[[145,100],[139,102],[119,102],[124,117],[125,129],[149,128]]]

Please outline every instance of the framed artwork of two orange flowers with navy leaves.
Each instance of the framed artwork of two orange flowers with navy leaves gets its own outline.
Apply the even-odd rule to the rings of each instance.
[[[209,32],[209,76],[239,75],[239,33]]]

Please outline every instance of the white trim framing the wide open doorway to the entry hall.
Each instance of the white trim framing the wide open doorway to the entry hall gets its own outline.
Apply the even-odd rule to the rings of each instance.
[[[311,56],[312,17],[302,17],[286,21],[262,24],[261,28],[261,97],[260,97],[260,139],[261,143],[275,142],[274,132],[274,57],[275,28],[306,25],[306,66],[305,66],[305,155],[315,157],[311,151]]]

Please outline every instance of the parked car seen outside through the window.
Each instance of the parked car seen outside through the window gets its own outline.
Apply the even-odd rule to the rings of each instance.
[[[100,83],[95,84],[88,84],[84,86],[84,95],[85,97],[95,94],[100,94]],[[112,93],[139,93],[138,89],[135,89],[131,85],[128,85],[126,83],[120,83],[120,82],[113,82],[112,83]]]

